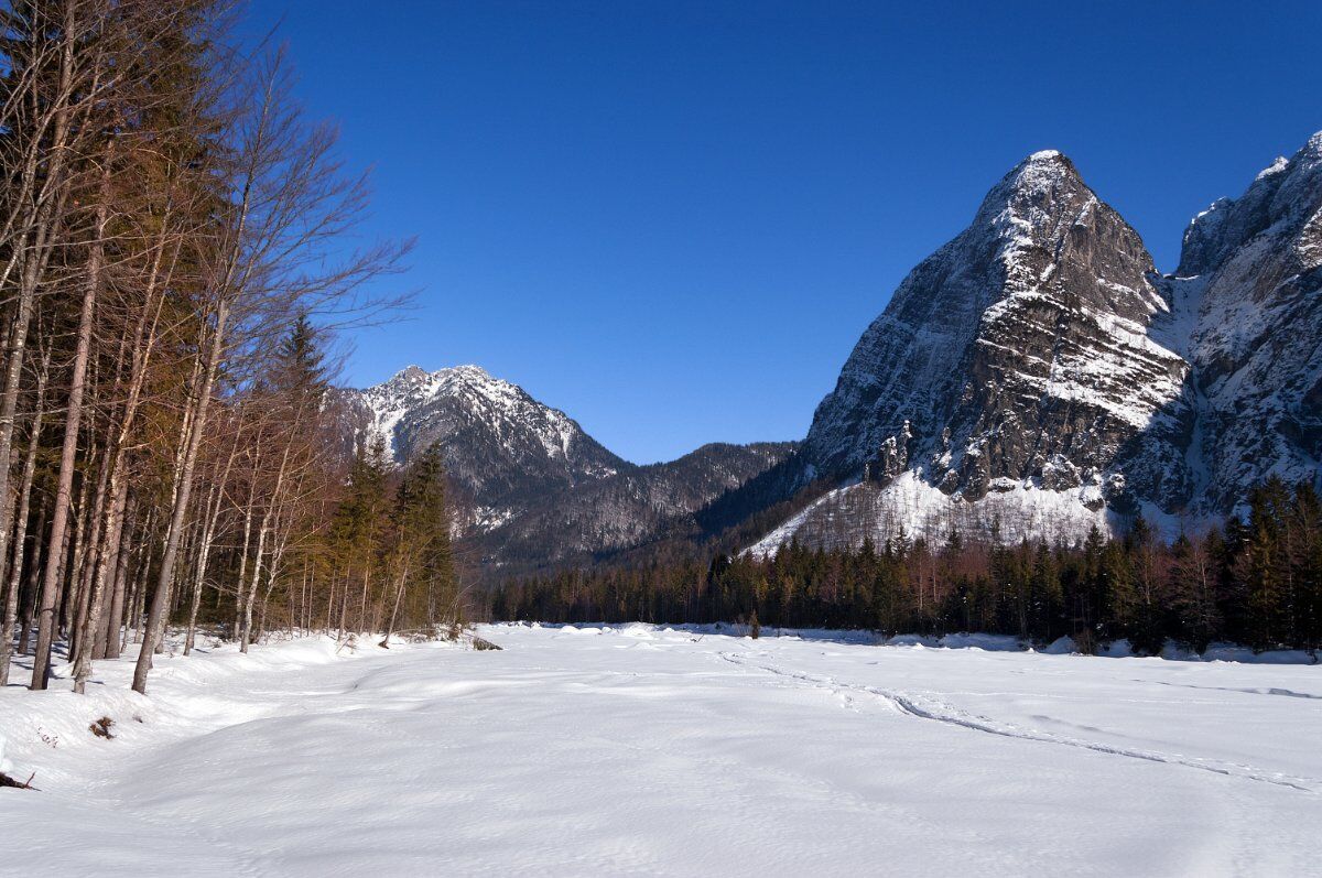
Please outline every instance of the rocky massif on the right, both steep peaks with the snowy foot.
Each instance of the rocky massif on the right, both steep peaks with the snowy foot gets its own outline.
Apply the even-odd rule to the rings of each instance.
[[[1319,480],[1319,164],[1322,135],[1200,214],[1162,276],[1067,157],[1029,156],[863,333],[787,464],[838,487],[756,549],[1076,539],[1140,512],[1173,532],[1270,473]]]

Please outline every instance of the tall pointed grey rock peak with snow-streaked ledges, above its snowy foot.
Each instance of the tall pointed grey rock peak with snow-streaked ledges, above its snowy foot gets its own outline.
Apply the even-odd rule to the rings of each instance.
[[[969,497],[993,479],[1040,477],[1063,446],[1096,471],[1107,454],[1084,446],[1110,447],[1108,424],[1145,423],[1178,394],[1178,357],[1146,337],[1167,309],[1154,276],[1138,234],[1073,163],[1029,156],[863,333],[817,410],[808,459],[847,476],[890,448]],[[1149,374],[1163,378],[1136,381]]]

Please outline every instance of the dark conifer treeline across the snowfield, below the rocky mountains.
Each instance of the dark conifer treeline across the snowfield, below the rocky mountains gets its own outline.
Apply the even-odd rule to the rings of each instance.
[[[986,632],[1035,643],[1071,636],[1084,651],[1128,639],[1140,653],[1166,640],[1202,651],[1315,651],[1322,641],[1322,504],[1307,484],[1270,480],[1248,514],[1171,543],[1138,518],[1107,539],[1066,546],[941,546],[899,534],[857,550],[791,542],[773,557],[719,554],[632,567],[566,570],[508,582],[501,620],[559,623],[740,621],[895,633]]]

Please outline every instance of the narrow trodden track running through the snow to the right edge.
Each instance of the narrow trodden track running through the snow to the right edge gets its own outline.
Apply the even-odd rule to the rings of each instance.
[[[724,661],[739,668],[751,668],[755,670],[763,670],[777,677],[788,677],[791,680],[797,680],[800,682],[809,684],[814,689],[830,689],[830,690],[845,690],[845,692],[858,692],[876,698],[882,698],[890,703],[898,713],[907,717],[914,717],[916,719],[929,719],[932,722],[940,722],[949,726],[958,726],[961,729],[972,729],[974,731],[982,731],[990,735],[999,735],[1002,738],[1018,738],[1019,740],[1036,740],[1042,743],[1062,744],[1066,747],[1077,747],[1080,750],[1091,750],[1093,752],[1108,754],[1112,756],[1124,756],[1128,759],[1140,759],[1144,762],[1157,762],[1169,766],[1183,766],[1186,768],[1198,768],[1199,771],[1210,771],[1216,775],[1224,775],[1227,778],[1240,778],[1243,780],[1253,780],[1257,783],[1273,784],[1276,787],[1286,787],[1289,789],[1298,789],[1300,792],[1309,795],[1318,795],[1322,792],[1322,780],[1315,778],[1294,778],[1290,775],[1282,775],[1280,772],[1268,772],[1261,768],[1255,768],[1253,766],[1241,766],[1237,763],[1216,763],[1211,759],[1186,759],[1182,756],[1162,754],[1150,750],[1133,750],[1128,747],[1116,747],[1112,744],[1104,744],[1095,740],[1083,740],[1079,738],[1064,738],[1062,735],[1052,735],[1044,731],[1032,731],[1029,729],[1021,729],[1011,723],[997,723],[986,717],[976,717],[969,713],[953,707],[952,705],[937,702],[940,707],[924,707],[919,705],[912,696],[900,692],[891,692],[887,689],[878,689],[875,686],[865,686],[858,684],[839,682],[833,677],[817,677],[814,674],[806,674],[800,672],[784,670],[783,668],[776,668],[772,665],[761,665],[752,661],[744,661],[750,653],[730,653],[720,652],[717,653]]]

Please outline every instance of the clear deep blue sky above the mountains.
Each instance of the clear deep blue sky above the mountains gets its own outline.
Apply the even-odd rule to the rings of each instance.
[[[418,237],[345,379],[476,362],[641,463],[797,439],[859,333],[1042,148],[1162,270],[1322,130],[1322,3],[253,0]]]

